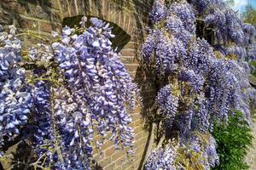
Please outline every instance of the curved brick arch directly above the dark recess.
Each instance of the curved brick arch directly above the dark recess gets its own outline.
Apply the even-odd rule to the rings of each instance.
[[[127,8],[128,4],[120,5],[114,0],[57,1],[60,4],[61,20],[77,15],[90,15],[115,23],[129,35],[136,28],[131,10]]]

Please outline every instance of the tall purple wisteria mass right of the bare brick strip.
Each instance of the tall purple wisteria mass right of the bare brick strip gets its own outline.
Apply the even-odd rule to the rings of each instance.
[[[250,122],[248,101],[256,96],[248,82],[246,60],[254,56],[253,48],[249,52],[247,47],[253,46],[255,29],[222,0],[189,2],[154,1],[150,15],[154,26],[143,44],[142,58],[146,65],[154,65],[160,80],[155,103],[163,117],[166,141],[176,132],[178,145],[206,158],[199,162],[210,169],[218,164],[213,124],[227,123],[236,110],[243,111]],[[159,15],[157,8],[165,13]],[[216,31],[216,44],[196,34],[196,18]],[[177,168],[161,157],[168,150],[152,152],[145,167]],[[154,161],[156,157],[161,163]]]

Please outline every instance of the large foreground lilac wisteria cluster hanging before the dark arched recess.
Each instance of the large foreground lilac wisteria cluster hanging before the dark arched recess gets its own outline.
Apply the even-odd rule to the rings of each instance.
[[[82,20],[85,22],[86,20]],[[64,27],[61,41],[29,51],[32,69],[32,140],[38,161],[56,169],[90,169],[93,135],[110,132],[117,149],[133,149],[129,126],[138,88],[120,54],[113,51],[111,28],[90,19],[81,34]],[[83,26],[85,26],[82,23]],[[54,37],[60,37],[54,32]]]

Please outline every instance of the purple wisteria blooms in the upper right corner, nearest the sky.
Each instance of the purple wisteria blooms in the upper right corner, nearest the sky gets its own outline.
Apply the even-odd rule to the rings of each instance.
[[[252,47],[255,48],[255,28],[252,25],[243,23],[238,14],[222,0],[193,0],[192,4],[198,17],[205,21],[207,27],[215,30],[216,41],[225,49],[222,51],[224,55],[232,54],[241,60],[252,59],[252,55],[255,55],[252,50]],[[251,46],[251,50],[247,50],[248,46]]]

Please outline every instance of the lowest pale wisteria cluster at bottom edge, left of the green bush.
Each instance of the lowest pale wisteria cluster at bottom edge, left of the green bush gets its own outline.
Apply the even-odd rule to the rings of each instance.
[[[206,169],[218,164],[216,141],[211,137],[203,140],[202,136],[193,134],[178,144],[167,144],[154,149],[148,156],[145,169]],[[203,150],[203,152],[201,152]]]

